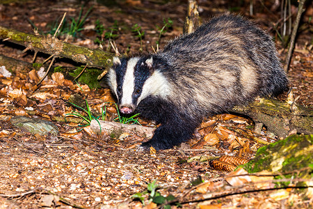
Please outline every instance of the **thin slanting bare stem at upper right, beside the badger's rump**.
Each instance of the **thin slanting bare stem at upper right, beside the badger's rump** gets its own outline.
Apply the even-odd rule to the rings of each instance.
[[[288,49],[288,54],[287,54],[287,58],[286,58],[286,60],[284,62],[284,72],[287,72],[287,73],[288,73],[288,70],[289,70],[289,64],[290,64],[290,60],[291,60],[291,55],[292,55],[292,52],[294,51],[294,40],[296,39],[299,22],[300,22],[300,19],[301,19],[301,15],[304,12],[304,9],[303,9],[303,4],[304,3],[305,3],[305,0],[300,0],[299,1],[296,22],[295,22],[295,25],[294,25],[294,29],[292,29],[292,33],[291,33],[291,40],[290,40],[290,45],[289,45],[289,49]]]

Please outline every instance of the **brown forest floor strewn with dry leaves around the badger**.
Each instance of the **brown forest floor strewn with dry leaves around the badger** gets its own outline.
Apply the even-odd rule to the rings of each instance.
[[[60,22],[65,12],[67,20],[70,20],[71,17],[77,18],[81,6],[83,14],[93,6],[84,24],[85,29],[76,37],[70,38],[69,42],[93,49],[99,47],[94,42],[99,38],[95,32],[96,20],[104,25],[105,31],[117,22],[115,34],[118,37],[115,38],[115,43],[121,54],[135,54],[141,47],[140,40],[131,32],[134,24],[145,31],[145,52],[153,52],[152,46],[156,45],[159,36],[156,25],[163,26],[164,19],[170,18],[173,24],[161,38],[160,48],[168,40],[182,34],[186,1],[104,2],[115,3],[105,6],[96,1],[0,1],[0,26],[33,33],[33,24],[47,33],[51,30],[50,25]],[[266,1],[265,5],[257,1],[253,15],[249,15],[249,2],[199,1],[200,17],[204,22],[227,11],[248,17],[271,33],[280,58],[284,60],[287,50],[282,47],[278,33],[273,29],[280,20],[280,8],[271,10],[274,1]],[[288,76],[298,104],[312,108],[312,3],[308,3],[306,7]],[[296,12],[296,6],[291,6],[291,11]],[[296,13],[292,17],[295,20]],[[280,31],[280,27],[278,30]],[[106,49],[108,40],[104,39],[102,45]],[[0,54],[31,63],[33,52],[22,52],[23,49],[0,40]],[[109,50],[113,52],[113,49]],[[38,54],[36,62],[40,63],[48,57],[47,54]],[[75,63],[58,59],[55,65],[73,66]],[[84,90],[82,93],[72,83],[56,84],[55,79],[52,82],[49,77],[43,84],[45,87],[38,90],[41,94],[32,96],[28,92],[29,86],[35,83],[29,77],[0,77],[0,208],[153,208],[154,205],[148,203],[147,194],[143,194],[147,206],[143,206],[138,199],[132,199],[131,195],[145,191],[147,185],[154,180],[157,180],[158,191],[162,196],[175,196],[183,208],[312,206],[312,200],[303,200],[302,194],[293,189],[287,191],[287,194],[282,192],[282,198],[277,198],[276,191],[247,192],[252,189],[251,185],[232,187],[223,178],[228,171],[218,171],[211,167],[209,160],[202,160],[222,155],[252,159],[262,144],[225,130],[225,127],[241,128],[247,132],[253,130],[255,124],[250,118],[230,114],[207,118],[196,131],[194,139],[179,148],[157,153],[153,150],[150,153],[138,153],[135,145],[146,140],[142,134],[129,132],[115,133],[115,136],[112,133],[97,136],[88,127],[81,130],[77,123],[53,119],[55,116],[63,118],[65,114],[74,111],[67,100],[75,93],[85,95],[90,107],[99,111],[104,102],[113,102],[107,88],[93,90],[81,85]],[[108,111],[108,120],[112,120],[116,113],[113,105],[108,107]],[[40,136],[22,131],[10,123],[13,116],[45,118],[57,126],[58,135]],[[151,121],[141,119],[140,122],[153,126]],[[215,135],[209,135],[211,137],[207,139],[211,133]],[[255,136],[252,131],[249,133]],[[277,140],[277,137],[267,134],[266,128],[257,137],[268,142]],[[195,180],[214,184],[201,192],[191,184]],[[172,208],[177,206],[173,204]]]

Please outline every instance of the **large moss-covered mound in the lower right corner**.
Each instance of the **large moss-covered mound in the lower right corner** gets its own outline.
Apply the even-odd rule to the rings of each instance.
[[[274,144],[259,148],[255,159],[243,165],[243,168],[249,173],[263,170],[273,171],[273,173],[299,171],[298,173],[284,175],[283,178],[310,179],[312,178],[313,171],[312,142],[313,135],[292,135]],[[288,184],[288,182],[280,183],[280,185]],[[298,183],[298,185],[303,184]]]

